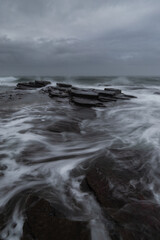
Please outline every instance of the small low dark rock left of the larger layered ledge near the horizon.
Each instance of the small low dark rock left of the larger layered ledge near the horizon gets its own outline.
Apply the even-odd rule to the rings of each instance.
[[[34,89],[34,88],[42,88],[50,84],[49,81],[34,81],[34,82],[25,82],[25,83],[18,83],[16,89],[20,90],[27,90],[27,89]]]

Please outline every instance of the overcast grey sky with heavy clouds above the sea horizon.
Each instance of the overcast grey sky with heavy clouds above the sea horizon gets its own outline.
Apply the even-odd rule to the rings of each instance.
[[[0,0],[0,75],[160,75],[160,1]]]

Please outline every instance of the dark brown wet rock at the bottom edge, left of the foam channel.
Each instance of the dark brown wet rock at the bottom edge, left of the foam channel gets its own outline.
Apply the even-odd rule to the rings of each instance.
[[[87,222],[58,216],[51,204],[36,196],[26,203],[26,220],[21,240],[90,240]]]

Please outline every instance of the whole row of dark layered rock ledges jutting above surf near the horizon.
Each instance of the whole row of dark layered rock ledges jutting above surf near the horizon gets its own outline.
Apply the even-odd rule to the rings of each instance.
[[[48,85],[47,81],[35,81],[28,83],[18,83],[16,89],[27,90],[41,88]],[[93,88],[78,88],[71,84],[57,83],[57,86],[49,86],[43,90],[51,98],[67,98],[70,103],[82,107],[105,107],[108,102],[117,100],[129,100],[134,96],[125,95],[119,89],[105,88],[104,90]]]

